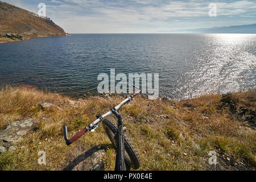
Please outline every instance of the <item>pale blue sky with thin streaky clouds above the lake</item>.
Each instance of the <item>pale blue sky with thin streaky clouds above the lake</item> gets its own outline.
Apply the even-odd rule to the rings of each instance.
[[[255,0],[1,0],[46,15],[71,34],[155,33],[256,23]],[[209,4],[216,16],[209,16]]]

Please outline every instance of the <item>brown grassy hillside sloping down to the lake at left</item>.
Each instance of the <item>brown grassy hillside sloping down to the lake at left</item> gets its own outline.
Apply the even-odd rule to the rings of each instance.
[[[63,28],[48,18],[40,18],[30,11],[0,1],[0,34],[18,34],[25,39],[66,35]]]

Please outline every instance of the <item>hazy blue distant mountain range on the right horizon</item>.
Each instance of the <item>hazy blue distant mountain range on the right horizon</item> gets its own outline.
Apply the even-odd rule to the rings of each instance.
[[[196,28],[187,30],[158,31],[158,33],[192,33],[192,34],[256,34],[256,23],[240,26]]]

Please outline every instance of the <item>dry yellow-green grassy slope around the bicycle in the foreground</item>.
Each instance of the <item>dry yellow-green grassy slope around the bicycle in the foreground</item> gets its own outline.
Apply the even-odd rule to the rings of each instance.
[[[75,106],[67,99],[70,100],[30,87],[0,90],[0,129],[18,119],[40,121],[40,129],[17,144],[18,151],[0,155],[1,170],[61,170],[94,146],[107,148],[105,168],[114,169],[115,150],[102,125],[69,147],[65,146],[62,126],[68,124],[71,136],[94,121],[97,113],[105,113],[123,98],[94,96]],[[42,110],[40,102],[50,102],[61,109]],[[212,169],[208,165],[211,150],[217,152],[219,163],[230,163],[220,169],[254,169],[255,124],[244,122],[248,120],[240,113],[244,108],[247,113],[255,110],[255,90],[225,98],[210,95],[186,101],[138,97],[123,106],[120,113],[126,134],[141,156],[141,170]],[[46,151],[46,166],[38,164],[39,151]]]

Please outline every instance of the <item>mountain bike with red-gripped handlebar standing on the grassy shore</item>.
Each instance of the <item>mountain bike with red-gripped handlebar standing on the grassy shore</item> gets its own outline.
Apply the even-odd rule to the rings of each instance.
[[[110,141],[115,147],[117,147],[117,155],[115,158],[115,171],[126,171],[129,170],[130,167],[133,169],[138,169],[140,165],[138,152],[133,146],[133,143],[131,143],[131,140],[124,133],[122,116],[118,114],[118,111],[123,105],[128,104],[131,101],[134,101],[133,98],[137,96],[139,93],[141,93],[141,90],[138,90],[134,94],[131,94],[130,97],[126,98],[119,105],[113,107],[113,109],[108,111],[108,113],[106,114],[97,114],[96,121],[92,122],[90,125],[79,131],[71,139],[68,139],[67,125],[64,126],[64,139],[66,141],[67,146],[75,142],[87,131],[94,132],[100,124],[100,122],[102,122],[104,130],[108,135]],[[112,121],[111,119],[104,119],[105,117],[108,117],[112,114],[114,114],[115,117],[117,117],[117,123]]]

